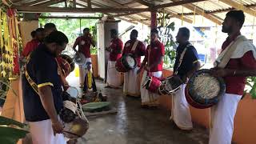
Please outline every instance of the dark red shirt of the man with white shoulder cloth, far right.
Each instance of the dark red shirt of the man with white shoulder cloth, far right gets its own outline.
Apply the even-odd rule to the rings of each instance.
[[[226,41],[222,44],[222,50],[225,50],[229,46],[230,42],[234,41],[238,37],[237,34],[233,38],[226,38]],[[246,52],[242,58],[230,58],[230,61],[226,65],[227,69],[234,70],[252,70],[256,68],[256,61],[254,59],[252,51]],[[242,95],[246,86],[246,77],[239,76],[227,76],[224,77],[226,82],[226,93]]]

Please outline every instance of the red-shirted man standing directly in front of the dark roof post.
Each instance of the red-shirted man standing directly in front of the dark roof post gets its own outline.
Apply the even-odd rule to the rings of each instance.
[[[165,55],[165,46],[158,40],[158,30],[151,30],[150,45],[146,48],[146,55],[142,62],[142,66],[137,73],[140,73],[142,68],[145,69],[142,84],[146,80],[148,74],[161,78],[162,64]],[[146,88],[141,86],[142,106],[158,106],[158,94],[151,93]]]

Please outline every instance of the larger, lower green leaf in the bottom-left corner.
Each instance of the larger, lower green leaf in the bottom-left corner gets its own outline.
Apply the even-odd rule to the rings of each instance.
[[[4,144],[16,144],[18,139],[25,138],[29,131],[0,126],[0,142]]]

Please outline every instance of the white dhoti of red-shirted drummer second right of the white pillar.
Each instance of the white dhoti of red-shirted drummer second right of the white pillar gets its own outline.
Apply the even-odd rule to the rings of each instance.
[[[140,96],[139,74],[137,74],[139,67],[124,74],[123,93],[134,97]]]

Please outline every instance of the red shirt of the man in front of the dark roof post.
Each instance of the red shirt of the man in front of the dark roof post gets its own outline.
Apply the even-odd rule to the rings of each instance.
[[[162,44],[162,42],[154,42],[151,43],[149,46],[146,48],[146,61],[147,64],[150,66],[152,65],[157,59],[165,55],[165,46]],[[157,71],[162,71],[162,64],[163,61],[160,62],[157,66],[154,66],[150,69],[150,72],[157,72]]]

